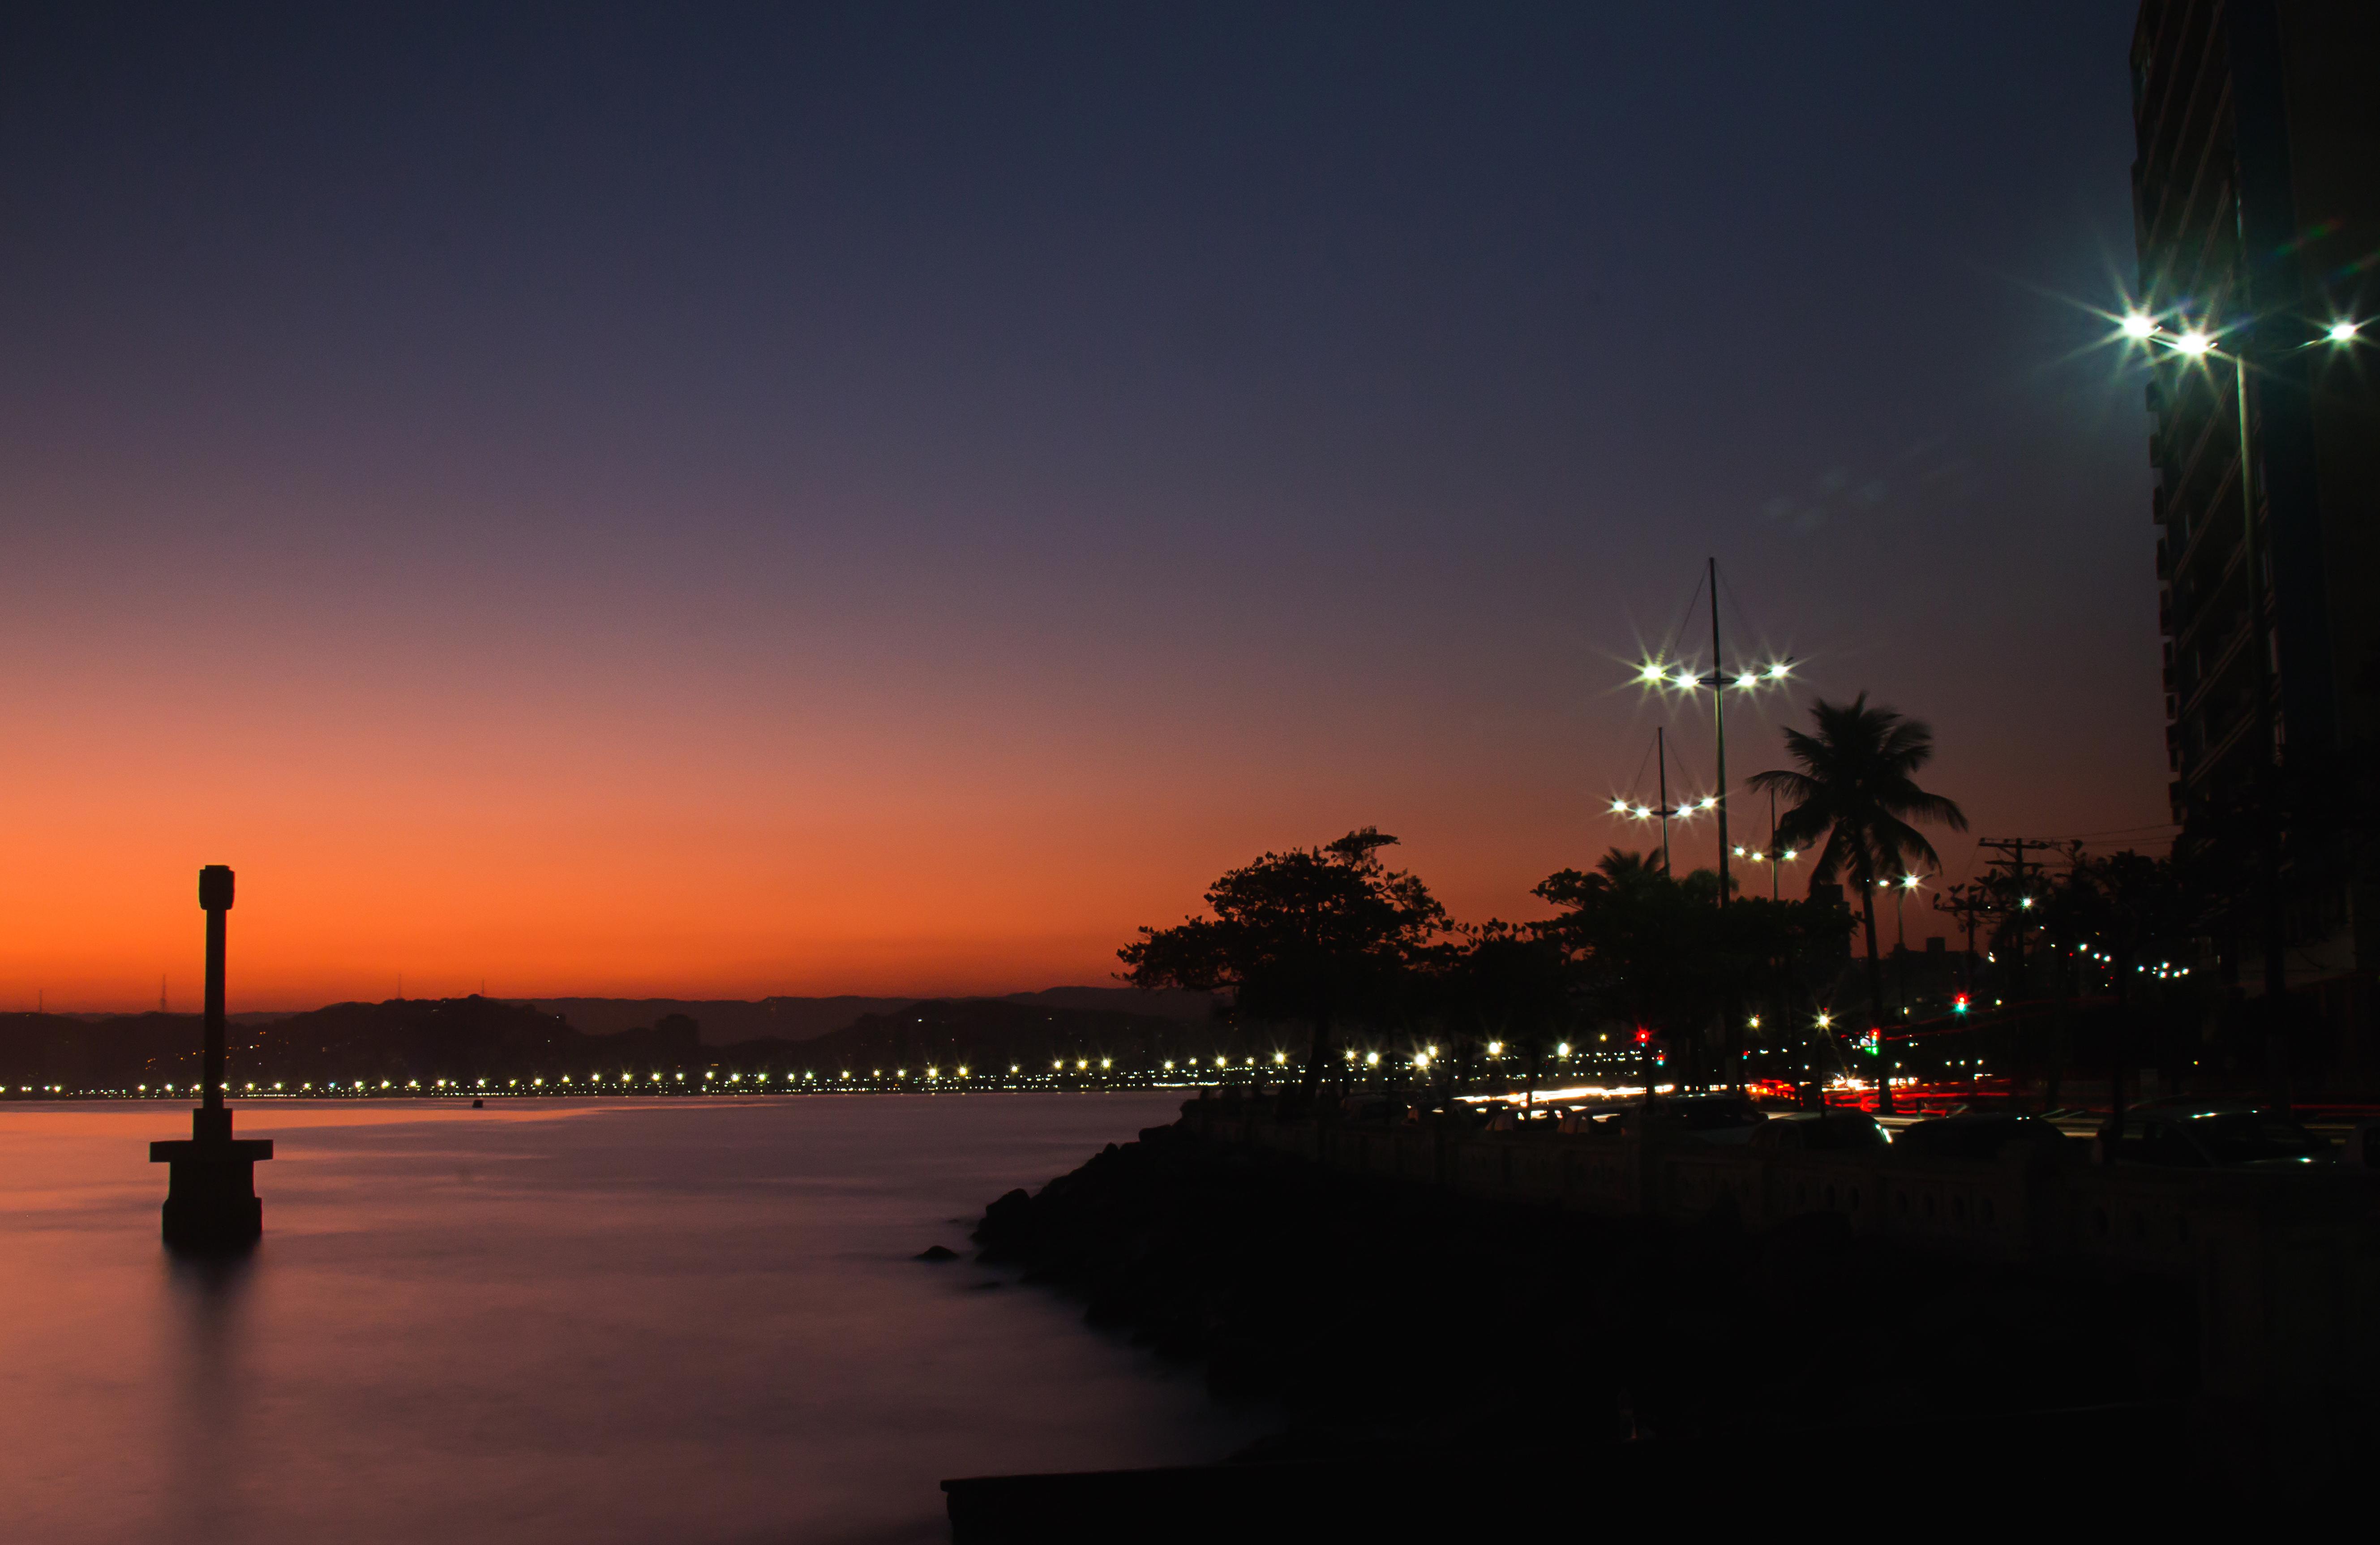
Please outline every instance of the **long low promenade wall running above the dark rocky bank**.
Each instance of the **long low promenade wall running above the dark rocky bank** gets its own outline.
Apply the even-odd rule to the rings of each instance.
[[[1345,1174],[1602,1216],[1745,1228],[1835,1214],[1856,1233],[2042,1271],[2182,1281],[2213,1402],[2318,1412],[2380,1378],[2380,1176],[1792,1152],[1604,1133],[1280,1121],[1195,1100],[1183,1124]]]

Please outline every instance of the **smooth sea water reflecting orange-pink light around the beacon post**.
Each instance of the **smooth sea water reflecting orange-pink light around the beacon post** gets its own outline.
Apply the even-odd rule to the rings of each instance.
[[[1252,1438],[976,1266],[1178,1095],[248,1105],[264,1243],[157,1243],[186,1107],[0,1107],[12,1540],[945,1540],[945,1476]]]

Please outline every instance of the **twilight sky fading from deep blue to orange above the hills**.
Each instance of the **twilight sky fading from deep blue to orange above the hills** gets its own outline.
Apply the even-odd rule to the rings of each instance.
[[[205,862],[233,1007],[1102,981],[1359,824],[1533,914],[1706,555],[2154,826],[2130,12],[10,7],[0,1007],[195,1007]]]

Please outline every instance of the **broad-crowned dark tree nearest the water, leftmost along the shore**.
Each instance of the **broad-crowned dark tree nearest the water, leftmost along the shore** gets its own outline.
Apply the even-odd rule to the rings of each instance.
[[[1321,847],[1266,852],[1207,890],[1214,917],[1142,928],[1116,950],[1135,988],[1230,990],[1235,1019],[1314,1028],[1299,1100],[1314,1102],[1340,1019],[1378,1012],[1426,959],[1447,912],[1411,874],[1388,869],[1373,826]]]

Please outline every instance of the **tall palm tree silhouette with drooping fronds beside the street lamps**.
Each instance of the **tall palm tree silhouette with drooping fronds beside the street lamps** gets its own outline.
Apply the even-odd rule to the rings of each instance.
[[[1933,728],[1904,719],[1887,707],[1868,707],[1861,693],[1852,702],[1816,702],[1816,733],[1785,731],[1785,750],[1799,769],[1752,776],[1752,788],[1775,790],[1792,802],[1778,821],[1778,845],[1809,847],[1825,833],[1825,850],[1811,867],[1811,890],[1847,876],[1859,886],[1859,912],[1868,936],[1868,1017],[1880,1019],[1885,969],[1875,952],[1875,886],[1899,864],[1942,867],[1916,826],[1940,821],[1966,831],[1966,812],[1916,786],[1916,771],[1933,759]],[[1875,1026],[1875,1107],[1892,1109],[1892,1059],[1885,1055],[1883,1024]]]

